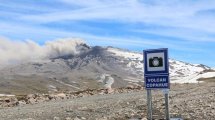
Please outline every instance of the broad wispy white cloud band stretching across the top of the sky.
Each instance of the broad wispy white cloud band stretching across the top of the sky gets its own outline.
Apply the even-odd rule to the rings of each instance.
[[[129,23],[148,23],[154,25],[184,27],[209,32],[213,29],[213,17],[197,16],[200,11],[215,9],[215,1],[178,1],[167,0],[151,3],[138,0],[62,0],[72,6],[81,6],[77,9],[62,9],[39,15],[22,16],[22,20],[49,23],[64,20],[114,20]]]

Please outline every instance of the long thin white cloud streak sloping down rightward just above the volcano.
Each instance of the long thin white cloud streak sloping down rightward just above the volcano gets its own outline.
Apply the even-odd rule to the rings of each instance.
[[[81,37],[88,41],[89,43],[104,43],[103,45],[129,45],[129,46],[168,46],[172,48],[177,48],[175,45],[164,43],[162,41],[154,41],[150,39],[140,38],[137,36],[126,36],[126,37],[114,37],[114,36],[99,36],[93,35],[90,33],[82,33],[82,32],[69,32],[62,30],[49,29],[45,27],[32,27],[28,25],[17,25],[15,23],[4,23],[0,26],[0,32],[11,33],[11,34],[27,34],[27,35],[35,35],[35,36],[46,36],[50,35],[56,37]],[[39,32],[38,32],[39,31]],[[36,40],[39,41],[39,40]]]

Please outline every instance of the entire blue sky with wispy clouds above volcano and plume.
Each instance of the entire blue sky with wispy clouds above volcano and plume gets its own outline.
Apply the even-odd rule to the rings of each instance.
[[[171,58],[215,66],[214,0],[0,0],[0,28],[14,41],[169,48]]]

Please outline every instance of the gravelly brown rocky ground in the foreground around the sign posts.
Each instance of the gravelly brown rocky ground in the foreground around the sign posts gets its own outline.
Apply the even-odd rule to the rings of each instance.
[[[164,119],[164,95],[153,91],[153,118]],[[138,120],[146,119],[142,87],[85,90],[1,97],[1,120]],[[188,120],[215,119],[215,83],[172,84],[171,116]]]

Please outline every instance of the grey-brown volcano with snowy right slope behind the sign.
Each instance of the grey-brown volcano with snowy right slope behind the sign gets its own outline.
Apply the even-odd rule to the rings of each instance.
[[[61,54],[61,48],[56,50],[54,57],[26,61],[1,69],[1,91],[78,91],[143,84],[142,53],[114,47],[90,47],[84,43],[76,44],[72,49],[75,52],[70,53],[67,48],[67,52]],[[195,83],[215,77],[215,71],[205,65],[174,59],[169,59],[169,63],[171,82]]]

